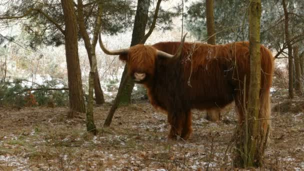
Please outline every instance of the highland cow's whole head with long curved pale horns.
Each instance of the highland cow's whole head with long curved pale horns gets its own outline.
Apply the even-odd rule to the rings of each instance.
[[[100,32],[98,40],[100,48],[105,54],[119,55],[119,59],[127,63],[128,74],[135,82],[143,83],[153,77],[155,60],[157,60],[157,58],[174,59],[180,56],[186,34],[187,33],[182,37],[178,50],[174,55],[157,50],[151,45],[144,44],[137,44],[129,48],[110,51],[104,47]]]

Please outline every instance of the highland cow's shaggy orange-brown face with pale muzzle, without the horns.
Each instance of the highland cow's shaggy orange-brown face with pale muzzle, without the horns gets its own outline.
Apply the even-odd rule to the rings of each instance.
[[[127,63],[129,76],[137,83],[144,83],[153,77],[157,50],[150,45],[137,44],[129,48],[119,59]]]

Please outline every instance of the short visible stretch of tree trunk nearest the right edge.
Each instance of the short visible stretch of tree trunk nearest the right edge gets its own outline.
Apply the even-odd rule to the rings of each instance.
[[[295,66],[295,91],[299,96],[302,95],[302,75],[301,75],[301,66],[300,66],[300,58],[298,55],[298,45],[293,46],[293,55],[294,55],[294,66]]]

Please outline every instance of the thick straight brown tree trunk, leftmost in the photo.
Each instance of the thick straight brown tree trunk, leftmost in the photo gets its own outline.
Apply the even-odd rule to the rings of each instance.
[[[78,57],[77,22],[72,0],[61,0],[65,31],[65,56],[68,78],[69,116],[75,112],[84,113],[83,90]]]

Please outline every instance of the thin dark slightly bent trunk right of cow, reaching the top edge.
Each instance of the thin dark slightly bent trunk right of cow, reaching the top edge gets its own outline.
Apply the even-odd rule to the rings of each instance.
[[[282,0],[282,4],[284,9],[284,16],[285,16],[284,33],[285,33],[285,39],[288,48],[288,95],[289,98],[293,98],[293,56],[292,56],[292,46],[289,41],[289,31],[288,31],[289,17],[288,17],[286,1]]]

